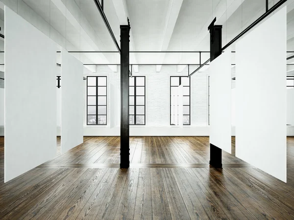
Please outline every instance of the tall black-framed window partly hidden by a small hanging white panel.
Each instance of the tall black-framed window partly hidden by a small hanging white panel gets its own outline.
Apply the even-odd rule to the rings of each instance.
[[[190,125],[190,78],[187,76],[171,76],[170,89],[170,124],[172,125],[172,89],[183,86],[183,125]]]

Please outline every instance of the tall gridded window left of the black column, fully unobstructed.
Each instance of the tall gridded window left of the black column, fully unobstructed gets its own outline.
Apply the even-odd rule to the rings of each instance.
[[[87,77],[87,125],[107,125],[107,78]]]

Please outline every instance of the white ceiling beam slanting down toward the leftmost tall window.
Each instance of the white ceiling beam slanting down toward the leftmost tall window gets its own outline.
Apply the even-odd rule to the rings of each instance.
[[[77,19],[75,18],[75,16],[72,14],[72,12],[70,10],[68,10],[68,8],[66,7],[66,5],[62,2],[62,0],[51,0],[56,7],[60,10],[60,12],[63,14],[63,16],[73,25],[73,27],[80,31],[80,37],[83,38],[85,41],[84,43],[84,47],[88,47],[89,49],[87,50],[100,50],[100,48],[98,47],[97,44],[103,45],[103,43],[101,42],[101,40],[99,40],[98,38],[96,38],[96,42],[93,41],[93,39],[90,37],[90,35],[96,35],[94,29],[92,28],[92,26],[90,25],[90,23],[84,24],[83,26],[80,25],[80,23],[77,21]],[[74,1],[68,1],[67,3],[74,3]],[[76,15],[77,17],[79,17],[80,15]],[[85,20],[84,22],[87,22],[87,20]],[[88,27],[87,30],[85,30],[85,28]],[[90,33],[91,32],[91,33]],[[97,42],[99,41],[99,42]],[[85,45],[87,44],[87,45]],[[86,49],[86,48],[85,48]],[[103,48],[101,48],[103,49]],[[110,62],[108,61],[108,59],[105,57],[104,54],[100,53],[98,54],[86,54],[86,57],[88,57],[90,60],[94,61],[94,63],[105,63],[105,64],[110,64]],[[91,67],[88,66],[87,67],[90,71],[92,71],[93,69],[96,69],[95,67]],[[117,71],[117,66],[109,66],[109,68],[116,72]]]

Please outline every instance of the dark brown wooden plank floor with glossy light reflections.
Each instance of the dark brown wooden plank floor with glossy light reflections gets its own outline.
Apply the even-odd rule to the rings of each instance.
[[[287,139],[288,183],[236,158],[234,138],[233,155],[223,153],[223,169],[214,169],[208,137],[131,137],[126,170],[119,137],[84,137],[4,184],[3,142],[0,220],[294,219],[294,137]]]

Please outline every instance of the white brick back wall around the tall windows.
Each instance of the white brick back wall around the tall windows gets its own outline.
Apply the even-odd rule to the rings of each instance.
[[[190,68],[194,68],[191,67]],[[162,66],[156,72],[156,66],[140,66],[134,76],[146,76],[146,125],[130,126],[130,135],[209,135],[208,129],[208,76],[206,73],[194,74],[191,77],[191,126],[170,125],[170,76],[187,76],[188,67],[182,73],[177,72],[177,66]],[[108,87],[113,85],[120,95],[120,69],[112,72],[107,66],[98,66],[97,73],[92,75],[107,76]],[[86,75],[84,75],[86,76]],[[84,81],[86,91],[86,81]],[[119,115],[119,103],[112,103],[113,97],[108,92],[107,126],[86,126],[86,103],[84,102],[84,135],[120,135],[119,127],[112,127],[112,114]],[[120,98],[119,98],[120,99]],[[86,100],[86,93],[84,95]],[[111,108],[116,108],[114,111]]]

